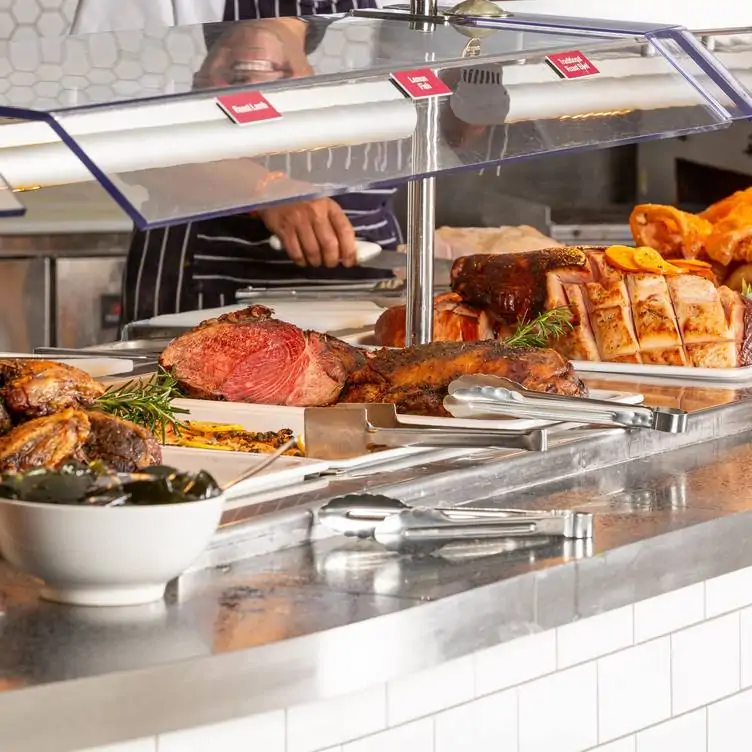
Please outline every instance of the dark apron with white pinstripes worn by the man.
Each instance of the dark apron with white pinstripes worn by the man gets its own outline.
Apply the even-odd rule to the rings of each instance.
[[[310,17],[370,7],[376,7],[373,0],[226,0],[224,20]],[[377,146],[385,147],[336,151],[344,153],[346,160],[359,160],[372,172],[378,172],[388,155],[386,147],[380,151]],[[331,158],[327,151],[334,150],[318,152],[316,158]],[[399,154],[392,158],[401,161]],[[267,161],[269,169],[285,169],[278,159]],[[366,190],[334,200],[345,211],[357,237],[394,249],[402,242],[399,224],[390,208],[395,191]],[[238,289],[270,280],[315,283],[391,276],[389,272],[360,267],[300,268],[286,254],[274,251],[269,237],[264,224],[246,214],[134,233],[123,284],[123,323],[229,305]]]

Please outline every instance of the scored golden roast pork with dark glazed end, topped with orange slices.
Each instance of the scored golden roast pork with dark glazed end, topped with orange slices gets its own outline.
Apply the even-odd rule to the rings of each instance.
[[[622,272],[599,249],[573,249],[583,262],[557,267],[560,250],[540,252],[537,260],[535,254],[459,259],[452,271],[454,290],[466,303],[507,321],[567,306],[572,329],[550,345],[572,360],[704,368],[752,364],[750,302],[733,290],[695,274]],[[506,287],[492,289],[494,284]]]

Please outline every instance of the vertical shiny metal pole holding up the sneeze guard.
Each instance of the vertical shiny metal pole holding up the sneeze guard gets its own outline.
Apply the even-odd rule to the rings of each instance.
[[[435,16],[438,0],[410,0],[410,12]],[[433,24],[411,22],[412,29],[430,33]],[[413,138],[413,172],[432,172],[437,167],[438,103],[429,99],[419,105],[418,127]],[[423,345],[433,338],[433,249],[436,230],[436,179],[419,178],[407,186],[407,305],[405,344]]]

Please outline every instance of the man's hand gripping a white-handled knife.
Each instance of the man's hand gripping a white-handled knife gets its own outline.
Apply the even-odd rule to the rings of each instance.
[[[299,266],[354,266],[355,231],[330,198],[281,204],[257,212]]]

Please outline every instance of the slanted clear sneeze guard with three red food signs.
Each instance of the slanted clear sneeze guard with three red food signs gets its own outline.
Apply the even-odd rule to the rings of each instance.
[[[606,26],[265,19],[11,43],[0,173],[16,191],[97,180],[148,228],[752,115],[748,69],[680,29]],[[597,75],[560,78],[550,58],[573,52]],[[426,68],[445,95],[390,80]],[[241,126],[217,106],[249,91],[281,117]]]

